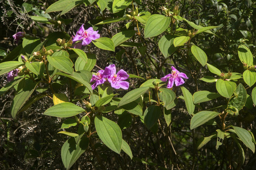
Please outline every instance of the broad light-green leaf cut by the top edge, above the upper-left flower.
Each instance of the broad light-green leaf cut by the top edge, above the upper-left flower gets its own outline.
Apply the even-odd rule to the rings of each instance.
[[[62,11],[61,15],[63,15],[80,3],[83,3],[83,0],[58,0],[57,2],[51,4],[45,10],[45,13]]]

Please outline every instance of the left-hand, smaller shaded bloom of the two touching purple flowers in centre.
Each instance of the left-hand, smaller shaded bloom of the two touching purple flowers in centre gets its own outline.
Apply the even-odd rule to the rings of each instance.
[[[96,75],[93,75],[92,79],[90,82],[95,82],[93,85],[92,85],[92,89],[94,90],[98,85],[101,85],[103,84],[108,75],[111,74],[111,69],[106,67],[105,70],[99,70]]]

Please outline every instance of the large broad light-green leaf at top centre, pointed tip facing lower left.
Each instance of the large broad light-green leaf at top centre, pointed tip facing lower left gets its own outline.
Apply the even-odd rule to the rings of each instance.
[[[146,22],[144,35],[145,38],[153,37],[164,32],[171,23],[171,17],[159,14],[150,16]]]

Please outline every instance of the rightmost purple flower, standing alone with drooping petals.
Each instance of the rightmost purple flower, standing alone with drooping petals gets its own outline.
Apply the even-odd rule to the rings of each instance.
[[[185,81],[182,78],[188,79],[187,75],[185,73],[180,73],[173,66],[171,66],[171,69],[172,69],[171,74],[168,74],[168,75],[160,78],[160,80],[167,81],[167,79],[169,78],[167,88],[171,88],[173,86],[174,82],[175,82],[176,86],[184,84]]]

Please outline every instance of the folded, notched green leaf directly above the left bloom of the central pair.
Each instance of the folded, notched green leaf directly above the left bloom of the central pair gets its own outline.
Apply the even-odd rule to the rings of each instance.
[[[86,54],[87,55],[87,62],[83,60],[82,58],[77,58],[76,63],[75,63],[75,70],[80,71],[80,70],[88,70],[91,71],[95,64],[96,64],[96,56],[95,54]]]

